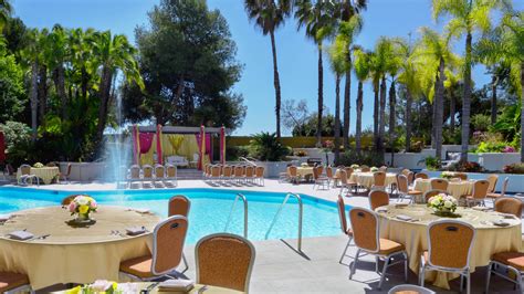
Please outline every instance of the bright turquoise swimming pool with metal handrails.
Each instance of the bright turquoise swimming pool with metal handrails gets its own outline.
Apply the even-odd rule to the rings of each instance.
[[[254,192],[219,189],[118,190],[90,191],[99,204],[148,208],[167,217],[167,202],[174,195],[185,195],[191,200],[189,232],[186,242],[195,244],[200,238],[223,232],[234,197],[241,192],[249,202],[248,238],[264,240],[271,221],[286,193]],[[72,193],[30,188],[0,188],[0,213],[56,206]],[[303,237],[325,237],[340,233],[336,204],[323,199],[301,195],[304,203]],[[101,208],[102,209],[102,208]],[[292,239],[297,234],[298,204],[291,198],[268,239]],[[96,214],[95,214],[96,218]],[[239,201],[233,211],[228,232],[243,234],[243,206]]]

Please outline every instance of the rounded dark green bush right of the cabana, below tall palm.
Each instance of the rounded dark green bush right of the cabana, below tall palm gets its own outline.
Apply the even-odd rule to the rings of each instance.
[[[290,149],[276,138],[276,134],[260,133],[250,141],[250,156],[261,161],[280,161],[290,155]]]

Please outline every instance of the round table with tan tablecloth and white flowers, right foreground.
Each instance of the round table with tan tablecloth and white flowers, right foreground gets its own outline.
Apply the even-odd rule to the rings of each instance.
[[[428,250],[428,224],[441,219],[432,214],[432,210],[425,204],[380,207],[376,209],[380,221],[380,238],[386,238],[406,246],[409,256],[409,267],[418,274],[420,256]],[[455,213],[461,220],[475,228],[476,235],[470,258],[471,272],[476,266],[485,266],[494,253],[504,251],[520,251],[522,246],[521,220],[516,218],[504,219],[504,216],[494,211],[479,211],[470,208],[459,207]],[[397,216],[411,217],[411,221],[402,221]],[[493,221],[504,219],[510,225],[496,227]],[[448,288],[449,281],[458,277],[458,274],[430,271],[426,280],[433,285]]]

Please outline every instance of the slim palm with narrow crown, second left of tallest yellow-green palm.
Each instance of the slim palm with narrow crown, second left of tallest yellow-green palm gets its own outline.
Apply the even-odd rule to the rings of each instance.
[[[406,87],[406,151],[411,149],[411,107],[413,97],[417,97],[420,92],[419,69],[417,66],[413,53],[415,46],[406,40],[397,41],[399,55],[402,59],[400,63],[400,74],[398,82]]]

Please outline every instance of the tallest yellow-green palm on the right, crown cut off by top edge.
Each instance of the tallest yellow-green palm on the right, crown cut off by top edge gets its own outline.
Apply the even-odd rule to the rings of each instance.
[[[470,140],[470,113],[471,113],[471,67],[473,32],[486,32],[491,28],[490,12],[503,4],[505,0],[432,0],[433,19],[441,15],[451,17],[447,25],[450,35],[460,38],[465,34],[464,59],[464,96],[462,101],[462,148],[461,161],[468,161]]]

